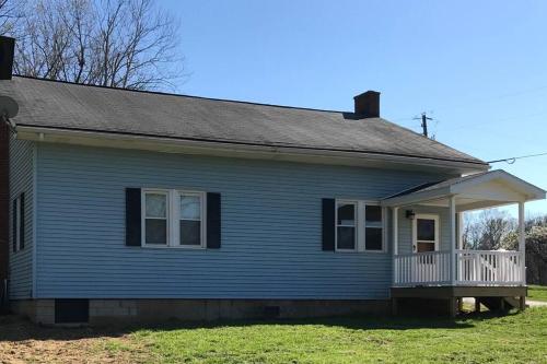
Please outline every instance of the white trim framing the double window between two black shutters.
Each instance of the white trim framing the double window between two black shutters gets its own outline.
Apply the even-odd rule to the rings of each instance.
[[[146,195],[162,193],[167,196],[167,244],[147,244],[146,243]],[[199,196],[201,200],[201,244],[200,245],[181,245],[181,209],[179,196]],[[141,189],[141,247],[151,249],[206,249],[207,248],[207,193],[203,191],[186,190],[186,189],[161,189],[161,188],[142,188]]]

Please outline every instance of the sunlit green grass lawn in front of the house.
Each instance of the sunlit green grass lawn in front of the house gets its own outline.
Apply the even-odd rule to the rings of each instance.
[[[100,345],[113,356],[146,353],[144,361],[154,363],[547,363],[547,308],[456,320],[173,324],[137,329]]]

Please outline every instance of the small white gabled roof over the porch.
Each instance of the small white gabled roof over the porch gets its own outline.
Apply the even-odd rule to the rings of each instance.
[[[496,206],[545,199],[544,189],[502,169],[428,183],[388,196],[385,207],[428,204],[449,207],[456,198],[457,211],[485,209]]]

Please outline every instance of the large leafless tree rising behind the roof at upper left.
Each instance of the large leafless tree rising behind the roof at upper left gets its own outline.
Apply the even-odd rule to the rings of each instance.
[[[19,74],[136,90],[185,77],[178,21],[152,0],[38,0],[25,12]]]

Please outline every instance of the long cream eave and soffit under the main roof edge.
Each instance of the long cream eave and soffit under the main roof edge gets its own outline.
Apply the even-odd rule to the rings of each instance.
[[[461,175],[487,171],[489,165],[465,161],[417,157],[359,151],[306,149],[287,145],[261,145],[203,141],[182,138],[154,137],[95,130],[49,128],[18,125],[18,138],[38,142],[68,143],[75,145],[146,150],[166,153],[213,155],[254,160],[334,164],[363,167],[440,171]]]

